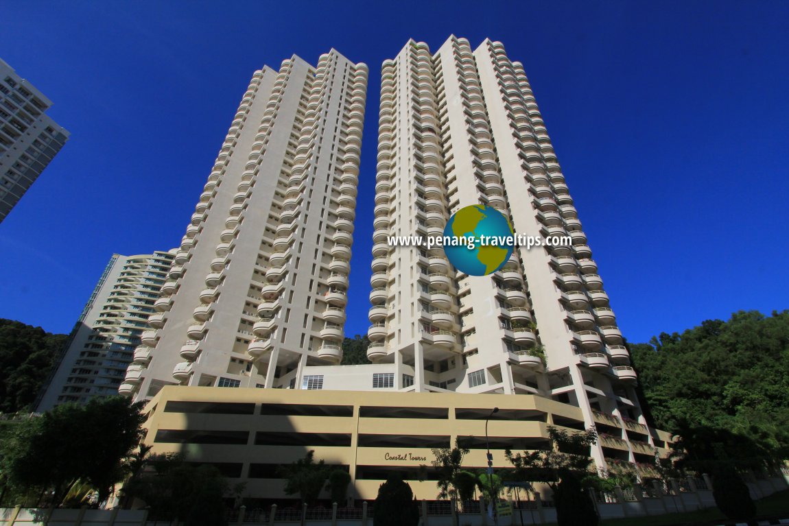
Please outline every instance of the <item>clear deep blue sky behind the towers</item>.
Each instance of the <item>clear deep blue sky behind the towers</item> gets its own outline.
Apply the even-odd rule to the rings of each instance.
[[[523,62],[630,341],[789,308],[789,2],[34,1],[0,57],[72,136],[0,223],[0,317],[68,332],[113,252],[178,244],[254,70],[335,47],[371,73],[365,332],[380,64],[452,33]]]

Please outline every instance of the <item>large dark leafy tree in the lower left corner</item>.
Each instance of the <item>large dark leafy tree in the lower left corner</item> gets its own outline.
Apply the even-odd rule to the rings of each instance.
[[[25,420],[3,442],[2,472],[18,490],[51,491],[54,505],[80,480],[103,502],[142,438],[141,408],[123,397],[103,397]]]

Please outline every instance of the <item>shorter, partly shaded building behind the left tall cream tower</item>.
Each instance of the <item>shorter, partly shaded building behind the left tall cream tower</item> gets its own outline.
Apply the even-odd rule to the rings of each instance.
[[[134,370],[148,359],[135,348],[173,256],[173,252],[112,256],[50,376],[39,411],[118,394],[126,367]],[[129,365],[132,360],[135,364]]]

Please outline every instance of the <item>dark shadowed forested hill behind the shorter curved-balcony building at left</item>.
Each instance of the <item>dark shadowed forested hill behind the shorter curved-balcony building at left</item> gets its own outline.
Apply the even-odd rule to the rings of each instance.
[[[30,410],[67,338],[0,319],[0,412]]]

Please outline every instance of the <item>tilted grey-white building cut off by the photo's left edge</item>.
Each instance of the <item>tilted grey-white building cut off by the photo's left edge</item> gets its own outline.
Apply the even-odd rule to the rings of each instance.
[[[49,99],[0,60],[0,222],[69,138]]]

